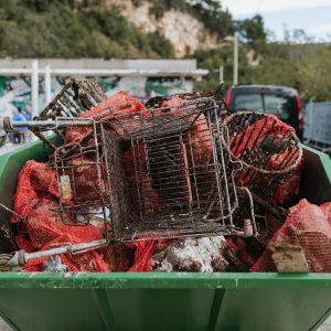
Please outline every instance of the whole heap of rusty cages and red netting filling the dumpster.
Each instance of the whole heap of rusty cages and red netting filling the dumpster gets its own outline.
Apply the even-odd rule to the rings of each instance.
[[[52,152],[20,171],[18,249],[0,270],[290,270],[290,250],[302,270],[331,271],[330,204],[288,210],[302,148],[273,115],[227,116],[211,92],[143,105],[72,79],[29,127]]]

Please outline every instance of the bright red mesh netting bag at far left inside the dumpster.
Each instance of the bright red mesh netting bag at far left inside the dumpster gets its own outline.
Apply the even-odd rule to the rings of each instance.
[[[102,239],[100,229],[93,225],[68,226],[63,223],[60,213],[52,211],[58,207],[55,171],[46,164],[28,161],[19,174],[19,184],[14,196],[14,211],[23,216],[20,224],[18,244],[26,252],[47,249],[50,245],[71,243],[79,244]],[[66,215],[64,215],[66,217]],[[67,217],[70,217],[67,215]],[[12,217],[18,223],[17,217]],[[61,255],[62,261],[71,271],[108,271],[108,266],[96,252],[82,255]],[[40,270],[41,261],[29,263],[24,269]]]

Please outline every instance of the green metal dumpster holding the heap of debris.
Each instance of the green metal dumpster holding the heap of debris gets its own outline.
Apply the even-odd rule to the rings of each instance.
[[[0,157],[0,202],[12,206],[19,170],[46,154],[36,142]],[[302,195],[331,201],[330,158],[305,154]],[[0,274],[0,316],[17,330],[301,331],[330,313],[331,274]]]

